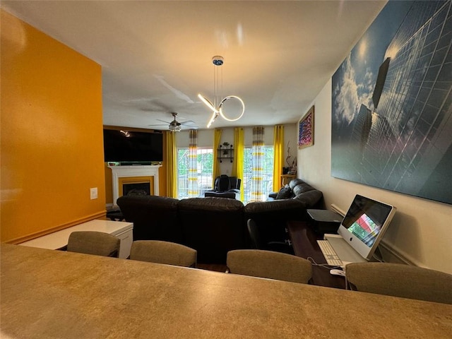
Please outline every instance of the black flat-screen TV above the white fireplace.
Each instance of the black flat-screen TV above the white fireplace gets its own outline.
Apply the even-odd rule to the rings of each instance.
[[[163,134],[104,129],[104,160],[121,165],[162,161]]]

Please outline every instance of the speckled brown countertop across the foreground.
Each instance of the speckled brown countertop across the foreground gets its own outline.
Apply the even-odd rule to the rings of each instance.
[[[452,338],[452,305],[1,244],[2,338]]]

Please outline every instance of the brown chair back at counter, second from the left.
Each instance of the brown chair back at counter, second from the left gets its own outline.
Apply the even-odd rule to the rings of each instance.
[[[151,263],[196,267],[196,254],[196,249],[175,242],[137,240],[132,242],[130,258]]]

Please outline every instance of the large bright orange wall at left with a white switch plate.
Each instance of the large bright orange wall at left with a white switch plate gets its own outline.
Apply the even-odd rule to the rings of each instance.
[[[105,215],[100,65],[4,10],[0,42],[1,242]]]

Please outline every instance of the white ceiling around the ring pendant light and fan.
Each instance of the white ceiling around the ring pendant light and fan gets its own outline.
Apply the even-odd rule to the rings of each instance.
[[[236,122],[292,124],[309,109],[384,1],[1,1],[2,8],[102,66],[105,125],[205,129],[215,55]],[[230,100],[232,101],[232,100]],[[235,107],[226,107],[231,117]]]

